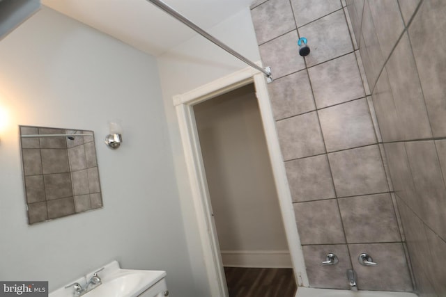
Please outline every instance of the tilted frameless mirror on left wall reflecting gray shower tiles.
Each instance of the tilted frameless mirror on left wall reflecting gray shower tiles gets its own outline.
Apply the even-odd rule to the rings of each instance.
[[[93,131],[20,126],[28,223],[102,207]]]

